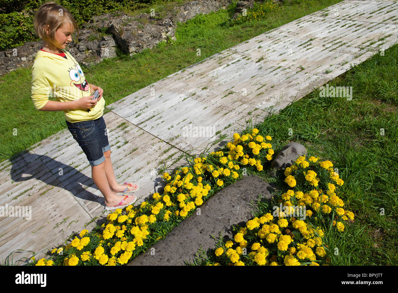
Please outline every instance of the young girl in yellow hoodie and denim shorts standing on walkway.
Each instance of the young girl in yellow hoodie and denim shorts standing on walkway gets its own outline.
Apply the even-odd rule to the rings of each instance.
[[[103,89],[87,83],[79,64],[65,50],[72,41],[72,33],[78,29],[76,21],[66,8],[47,2],[39,7],[33,22],[43,41],[32,67],[31,98],[36,110],[64,111],[66,125],[86,154],[93,181],[105,198],[105,209],[133,204],[136,196],[117,195],[135,192],[139,186],[116,182],[102,117],[105,106],[105,100],[101,99]],[[94,90],[98,90],[100,96],[92,100]],[[57,101],[49,100],[52,95]]]

